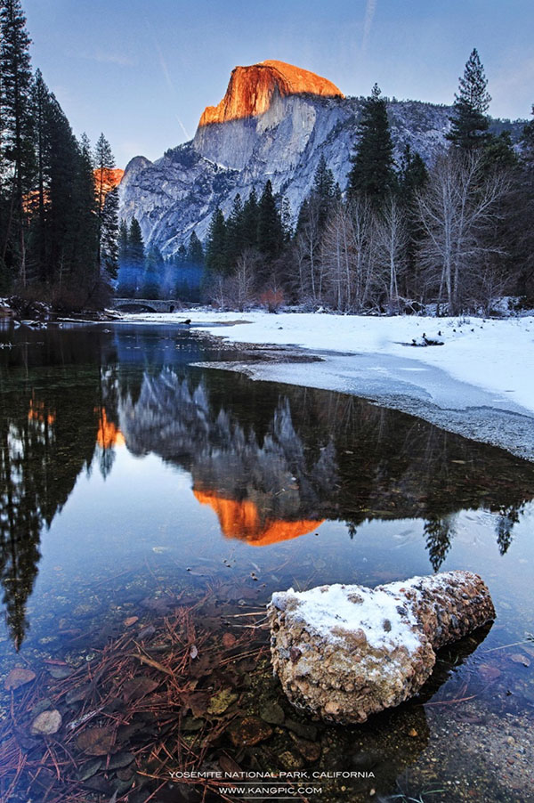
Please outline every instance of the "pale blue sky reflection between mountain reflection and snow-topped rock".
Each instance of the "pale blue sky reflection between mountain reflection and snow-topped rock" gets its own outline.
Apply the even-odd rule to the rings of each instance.
[[[499,614],[488,641],[500,643],[499,631],[505,627],[510,636],[532,629],[524,617],[525,594],[529,599],[531,594],[534,505],[527,505],[515,525],[505,556],[495,538],[497,518],[485,511],[453,516],[454,534],[441,570],[469,569],[487,581]],[[53,605],[51,592],[61,595],[71,577],[80,583],[78,590],[91,590],[92,577],[101,581],[126,569],[146,572],[147,564],[152,571],[165,567],[171,575],[192,567],[197,582],[202,582],[200,574],[227,580],[232,571],[256,566],[266,583],[262,599],[280,586],[375,585],[432,571],[420,519],[366,521],[352,538],[344,522],[325,521],[308,534],[261,547],[224,537],[217,511],[198,502],[188,472],[153,454],[134,457],[124,446],[117,449],[105,480],[95,465],[78,477],[61,515],[44,534],[41,554],[34,610],[43,593]],[[234,568],[229,570],[224,560]],[[285,564],[281,570],[280,564]]]

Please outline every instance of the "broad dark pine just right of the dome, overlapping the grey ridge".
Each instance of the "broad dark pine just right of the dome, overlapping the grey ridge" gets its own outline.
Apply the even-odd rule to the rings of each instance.
[[[387,118],[387,106],[375,84],[361,112],[356,150],[352,156],[347,195],[349,199],[366,196],[379,208],[395,189],[393,143]]]

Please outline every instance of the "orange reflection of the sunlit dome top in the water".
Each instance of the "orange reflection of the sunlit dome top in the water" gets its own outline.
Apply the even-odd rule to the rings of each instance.
[[[282,520],[263,520],[254,502],[244,499],[224,499],[214,493],[196,491],[195,498],[201,505],[209,505],[217,514],[221,530],[226,538],[238,538],[247,541],[253,547],[265,547],[267,544],[276,544],[306,535],[317,530],[323,523],[321,521],[299,520],[286,522]]]

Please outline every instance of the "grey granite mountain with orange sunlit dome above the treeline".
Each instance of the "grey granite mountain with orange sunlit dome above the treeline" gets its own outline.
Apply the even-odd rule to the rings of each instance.
[[[208,106],[191,142],[151,163],[134,158],[120,184],[120,214],[141,223],[145,242],[165,255],[200,239],[215,207],[227,215],[236,194],[246,199],[269,178],[293,215],[312,187],[321,154],[342,189],[357,141],[362,98],[345,98],[326,78],[282,61],[237,67],[217,106]],[[409,142],[425,160],[445,143],[450,108],[391,101],[397,155]]]

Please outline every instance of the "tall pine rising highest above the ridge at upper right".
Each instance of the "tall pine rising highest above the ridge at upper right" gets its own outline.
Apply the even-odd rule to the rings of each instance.
[[[465,64],[464,75],[459,78],[453,115],[450,118],[451,127],[447,134],[447,139],[457,148],[471,150],[489,140],[490,121],[486,112],[490,108],[491,96],[487,86],[484,68],[474,48]]]

